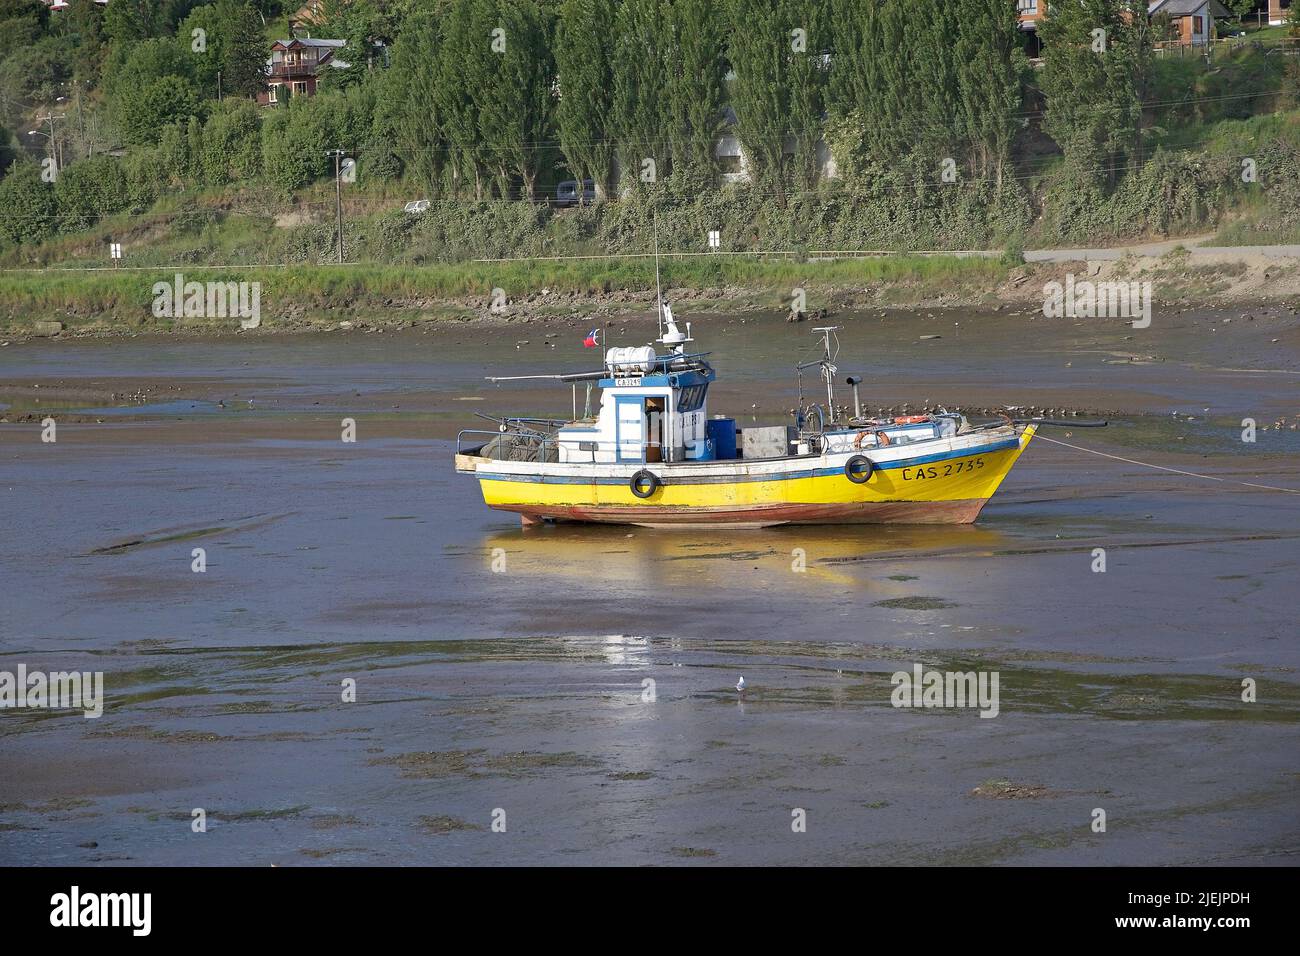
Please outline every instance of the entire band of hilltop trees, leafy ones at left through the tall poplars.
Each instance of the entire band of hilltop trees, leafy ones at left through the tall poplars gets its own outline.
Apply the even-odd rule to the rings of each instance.
[[[51,16],[0,0],[0,121],[57,94],[82,155],[125,147],[99,164],[96,212],[234,183],[289,195],[335,147],[364,179],[433,198],[536,198],[566,176],[690,195],[716,189],[724,135],[777,204],[829,163],[848,187],[998,189],[1040,133],[1071,174],[1113,187],[1143,157],[1156,39],[1143,0],[1053,4],[1040,69],[1014,0],[322,0],[311,33],[347,39],[347,68],[316,96],[255,105],[266,23],[292,5],[72,0]],[[77,198],[25,202],[79,221],[74,183]]]

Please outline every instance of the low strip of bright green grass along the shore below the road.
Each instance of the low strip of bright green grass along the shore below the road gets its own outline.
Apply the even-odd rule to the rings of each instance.
[[[789,308],[797,289],[810,310],[840,294],[894,304],[976,300],[1010,271],[994,259],[890,256],[833,261],[708,256],[662,261],[664,286],[697,303]],[[447,319],[524,319],[645,310],[654,294],[647,258],[420,267],[295,265],[9,271],[0,273],[0,325],[26,333],[40,323],[69,330],[233,330],[231,317],[153,315],[155,284],[257,282],[263,325],[313,328],[339,320],[380,325]],[[491,310],[494,290],[504,307]]]

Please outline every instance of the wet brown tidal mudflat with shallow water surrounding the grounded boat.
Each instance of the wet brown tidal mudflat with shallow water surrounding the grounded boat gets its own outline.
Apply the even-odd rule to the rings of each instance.
[[[780,420],[807,326],[692,319],[711,411]],[[1290,313],[836,320],[872,407],[1100,411],[1045,434],[1300,488]],[[1295,862],[1300,496],[1035,442],[972,527],[525,532],[455,433],[566,414],[481,376],[586,368],[576,328],[0,352],[0,670],[108,696],[0,711],[0,862]],[[892,708],[914,663],[1000,715]]]

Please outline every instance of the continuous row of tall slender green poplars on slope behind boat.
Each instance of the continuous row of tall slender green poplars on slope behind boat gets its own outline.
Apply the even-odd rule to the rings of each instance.
[[[403,156],[476,196],[532,193],[556,155],[602,191],[711,187],[724,133],[777,196],[816,186],[819,150],[1001,176],[1027,70],[1011,0],[462,0],[417,10],[393,62]]]

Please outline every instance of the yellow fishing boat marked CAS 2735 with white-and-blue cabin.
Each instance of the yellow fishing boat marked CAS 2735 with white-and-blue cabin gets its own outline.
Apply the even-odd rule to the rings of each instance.
[[[586,372],[489,378],[552,380],[573,390],[568,420],[503,418],[493,419],[493,431],[460,432],[456,471],[478,479],[489,507],[519,514],[525,527],[966,524],[1037,427],[1066,424],[1010,416],[972,424],[944,410],[871,418],[862,412],[862,380],[854,376],[845,380],[852,412],[840,408],[837,328],[822,326],[814,329],[820,358],[796,365],[793,424],[741,428],[734,418],[710,416],[711,354],[689,350],[690,323],[682,332],[662,294],[656,300],[662,347],[610,347],[603,367]],[[586,345],[598,336],[593,332]],[[826,385],[824,406],[803,397],[803,375],[814,369]],[[588,394],[582,415],[578,384]],[[594,411],[593,385],[601,389]]]

